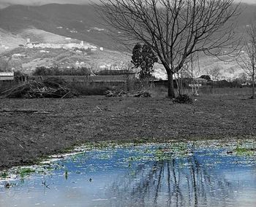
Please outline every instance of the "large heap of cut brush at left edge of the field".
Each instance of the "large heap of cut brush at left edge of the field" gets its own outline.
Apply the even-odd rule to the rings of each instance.
[[[48,78],[42,82],[29,80],[8,91],[7,98],[73,98],[75,93],[62,79]]]

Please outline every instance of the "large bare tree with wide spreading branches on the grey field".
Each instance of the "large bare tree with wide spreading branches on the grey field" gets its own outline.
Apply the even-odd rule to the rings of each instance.
[[[123,42],[143,42],[165,67],[168,96],[175,97],[173,74],[195,52],[221,55],[236,41],[229,22],[238,15],[234,0],[100,0],[99,13]]]

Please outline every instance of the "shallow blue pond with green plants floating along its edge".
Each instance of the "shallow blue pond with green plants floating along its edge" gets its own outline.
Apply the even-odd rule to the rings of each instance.
[[[80,148],[1,172],[0,206],[256,206],[255,141]]]

